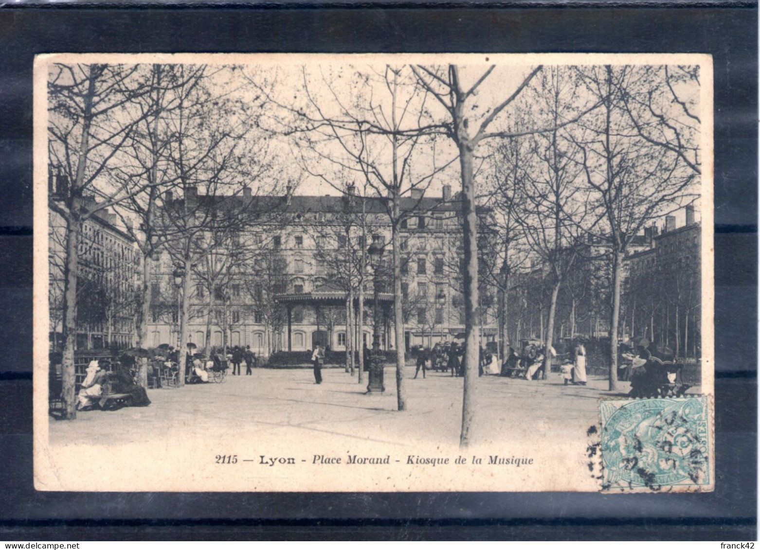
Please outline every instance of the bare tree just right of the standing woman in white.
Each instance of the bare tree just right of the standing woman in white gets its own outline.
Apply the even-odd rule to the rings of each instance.
[[[667,83],[658,71],[628,65],[578,69],[587,92],[600,103],[584,119],[575,143],[596,207],[597,221],[590,231],[610,247],[610,390],[618,386],[623,258],[644,226],[697,197],[698,146],[687,146],[684,134],[672,130],[671,121],[686,115],[665,93]]]

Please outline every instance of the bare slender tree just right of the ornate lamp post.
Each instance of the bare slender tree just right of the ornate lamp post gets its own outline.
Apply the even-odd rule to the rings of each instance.
[[[401,221],[414,207],[402,208],[411,191],[425,191],[452,160],[441,163],[427,122],[428,94],[407,67],[386,65],[331,77],[321,68],[318,82],[303,71],[305,100],[285,106],[293,114],[287,131],[300,140],[302,166],[313,177],[342,191],[335,172],[346,172],[386,198],[382,204],[391,225],[394,266],[397,409],[407,408],[404,390],[404,318],[401,298]],[[338,78],[346,77],[340,87]],[[350,80],[350,85],[346,84]],[[337,90],[348,90],[341,96]],[[423,147],[425,145],[426,147]],[[424,151],[423,151],[424,149]],[[417,162],[424,157],[423,162]],[[324,168],[323,168],[324,167]],[[336,181],[338,182],[336,184]]]

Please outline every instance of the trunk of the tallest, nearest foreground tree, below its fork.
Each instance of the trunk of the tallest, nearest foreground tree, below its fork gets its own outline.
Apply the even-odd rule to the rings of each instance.
[[[466,448],[473,438],[477,404],[478,358],[477,341],[480,327],[477,273],[477,215],[473,182],[473,150],[469,141],[459,144],[459,163],[462,172],[462,217],[464,221],[464,391],[462,396],[462,431],[459,446]]]

